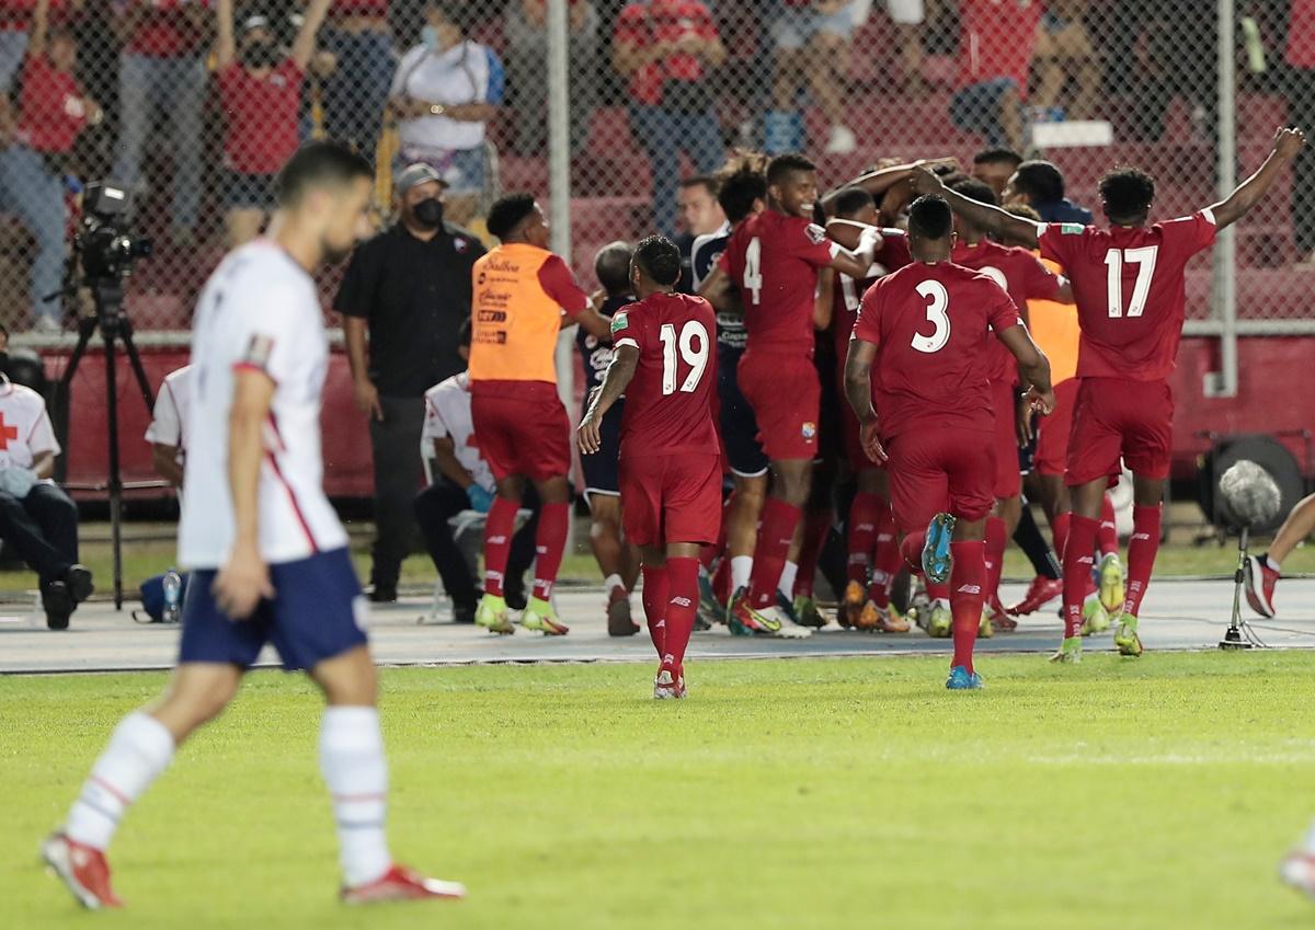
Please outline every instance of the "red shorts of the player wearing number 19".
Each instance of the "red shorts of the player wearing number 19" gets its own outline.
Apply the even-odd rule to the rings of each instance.
[[[622,458],[621,521],[635,545],[711,545],[722,525],[721,456]]]

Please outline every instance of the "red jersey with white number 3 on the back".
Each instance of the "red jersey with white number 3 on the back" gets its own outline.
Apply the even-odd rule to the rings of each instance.
[[[1003,288],[949,261],[919,261],[872,285],[853,338],[877,347],[872,393],[881,435],[992,432],[995,416],[982,359],[995,332],[1022,322]]]

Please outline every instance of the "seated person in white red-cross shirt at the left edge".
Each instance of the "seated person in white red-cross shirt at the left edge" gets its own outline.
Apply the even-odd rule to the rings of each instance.
[[[59,452],[41,394],[0,374],[0,540],[41,579],[50,629],[67,629],[95,590],[78,564],[78,506],[50,481]]]

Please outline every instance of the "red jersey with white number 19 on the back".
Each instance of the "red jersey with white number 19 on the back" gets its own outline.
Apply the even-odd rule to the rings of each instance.
[[[611,318],[611,344],[639,349],[621,416],[621,457],[718,454],[713,424],[717,315],[690,294],[651,294]]]

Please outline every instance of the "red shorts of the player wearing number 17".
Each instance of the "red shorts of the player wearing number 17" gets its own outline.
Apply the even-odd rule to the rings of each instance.
[[[1073,407],[1068,476],[1072,487],[1120,474],[1168,478],[1173,440],[1173,390],[1168,381],[1082,378]]]

